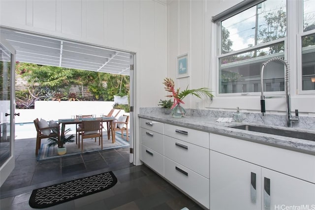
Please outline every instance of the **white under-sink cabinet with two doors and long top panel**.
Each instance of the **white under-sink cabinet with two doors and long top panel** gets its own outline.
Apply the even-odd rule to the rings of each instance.
[[[286,150],[215,134],[210,135],[210,141],[213,146],[210,150],[211,210],[315,208],[313,179],[293,176],[298,174],[296,168],[314,166],[313,155],[287,150],[290,156],[281,156]],[[270,156],[274,157],[273,161]],[[306,162],[300,162],[305,166],[296,166],[292,161],[289,169],[287,160],[292,156],[305,158]],[[303,173],[312,173],[312,170],[313,167]]]

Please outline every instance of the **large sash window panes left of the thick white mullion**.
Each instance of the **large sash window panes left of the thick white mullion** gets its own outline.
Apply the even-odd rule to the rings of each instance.
[[[285,58],[286,1],[266,0],[219,21],[219,93],[260,92],[262,63]],[[265,67],[263,89],[284,91],[283,63]]]

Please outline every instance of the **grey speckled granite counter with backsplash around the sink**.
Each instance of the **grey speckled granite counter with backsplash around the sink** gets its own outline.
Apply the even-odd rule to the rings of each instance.
[[[199,112],[199,113],[198,113]],[[247,141],[252,141],[260,144],[266,144],[274,147],[284,148],[288,150],[295,150],[299,152],[309,153],[315,155],[315,141],[302,140],[290,137],[283,137],[278,135],[259,133],[247,130],[241,130],[236,128],[231,128],[229,126],[238,125],[238,124],[263,124],[266,127],[277,128],[279,124],[284,124],[282,119],[270,119],[270,121],[277,121],[277,125],[269,123],[259,123],[259,121],[252,120],[251,117],[248,117],[243,122],[216,122],[219,117],[232,117],[231,112],[224,113],[210,113],[211,111],[207,111],[206,113],[201,110],[188,110],[188,115],[182,119],[172,118],[171,115],[165,115],[160,111],[160,108],[141,108],[140,113],[138,115],[139,118],[144,118],[148,120],[155,120],[159,122],[164,122],[168,124],[174,124],[178,126],[188,127],[196,130],[207,131],[210,133],[216,133],[220,135],[235,137],[244,139]],[[280,116],[283,117],[283,116]],[[251,118],[251,119],[250,119]],[[284,117],[285,120],[285,117]],[[309,120],[309,119],[308,119]],[[313,130],[313,119],[311,119],[312,123],[306,120],[306,124],[309,127],[306,128],[286,128],[283,126],[279,126],[281,129],[288,130],[297,130],[297,131],[305,131],[308,133],[314,134],[315,138],[315,130]],[[303,122],[301,122],[302,124]],[[310,127],[311,124],[311,127]]]

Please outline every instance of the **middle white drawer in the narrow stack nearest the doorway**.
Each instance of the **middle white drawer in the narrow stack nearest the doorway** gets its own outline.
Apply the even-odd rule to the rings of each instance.
[[[164,154],[164,135],[151,131],[145,128],[140,128],[141,132],[141,144],[157,151],[160,154]]]

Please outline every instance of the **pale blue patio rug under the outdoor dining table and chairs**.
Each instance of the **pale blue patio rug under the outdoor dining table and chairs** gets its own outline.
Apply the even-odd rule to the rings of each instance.
[[[123,138],[122,134],[119,132],[116,132],[115,143],[112,143],[112,140],[107,139],[107,135],[103,136],[103,150],[110,150],[110,149],[118,149],[118,148],[128,148],[129,142],[126,141],[126,136],[124,135]],[[85,139],[83,142],[83,152],[81,152],[78,148],[78,145],[74,143],[65,144],[64,145],[67,149],[67,152],[63,155],[58,155],[57,153],[57,147],[49,148],[47,140],[42,140],[42,144],[40,146],[40,149],[38,151],[37,160],[47,160],[47,159],[53,159],[57,157],[65,157],[65,156],[71,156],[81,153],[87,153],[87,152],[94,152],[94,151],[100,151],[101,147],[98,146],[98,138],[96,138],[96,142],[94,139]]]

